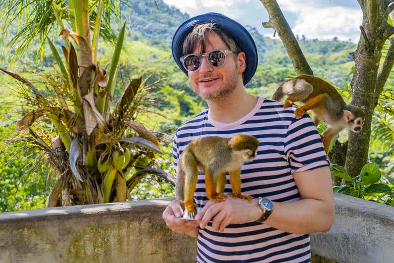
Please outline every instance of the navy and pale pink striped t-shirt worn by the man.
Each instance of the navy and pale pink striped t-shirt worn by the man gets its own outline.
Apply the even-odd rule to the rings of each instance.
[[[176,166],[187,144],[203,136],[230,138],[247,134],[260,141],[253,162],[241,169],[241,192],[267,197],[276,202],[300,199],[292,174],[323,166],[329,162],[311,118],[305,114],[295,119],[295,107],[283,109],[283,103],[259,97],[256,107],[234,123],[213,120],[209,109],[179,127],[174,138],[173,159]],[[176,171],[176,168],[175,168]],[[229,175],[225,193],[231,193]],[[199,173],[195,202],[208,202],[205,175]],[[308,234],[290,234],[260,222],[232,224],[216,232],[212,222],[200,229],[197,260],[201,262],[310,262]]]

